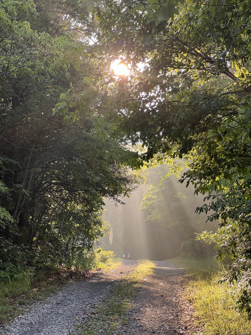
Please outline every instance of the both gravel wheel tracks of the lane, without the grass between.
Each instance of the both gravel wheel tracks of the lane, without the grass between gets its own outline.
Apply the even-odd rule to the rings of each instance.
[[[145,278],[138,289],[128,322],[116,334],[194,334],[192,310],[182,298],[182,270],[168,262],[154,263],[154,274]],[[2,327],[0,335],[78,334],[76,325],[136,266],[137,261],[127,260],[116,270],[67,284],[46,300],[33,304],[27,314],[15,318],[9,326]]]

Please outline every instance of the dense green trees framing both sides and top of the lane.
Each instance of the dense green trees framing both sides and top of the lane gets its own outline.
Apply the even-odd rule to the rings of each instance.
[[[128,166],[169,164],[176,173],[183,160],[180,183],[205,196],[197,212],[219,220],[200,238],[232,259],[224,280],[239,282],[250,310],[250,8],[246,0],[0,3],[3,277],[91,250],[104,197],[133,187]],[[118,58],[127,76],[112,72]],[[156,187],[141,206],[161,222],[165,206],[158,200],[156,213],[149,201],[173,191]],[[180,210],[165,224],[174,212],[180,227]]]

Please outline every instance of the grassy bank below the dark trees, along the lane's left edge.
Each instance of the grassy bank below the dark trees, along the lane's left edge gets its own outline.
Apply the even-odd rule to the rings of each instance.
[[[19,269],[13,277],[2,271],[0,324],[20,315],[34,300],[44,299],[67,282],[90,276],[95,270],[116,268],[120,263],[121,260],[113,258],[111,253],[100,251],[92,257],[72,260],[70,264]]]

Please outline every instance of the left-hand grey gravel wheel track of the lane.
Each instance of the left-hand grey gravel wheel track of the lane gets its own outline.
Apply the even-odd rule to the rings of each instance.
[[[67,284],[46,300],[31,305],[30,312],[16,317],[10,325],[0,328],[0,335],[78,334],[75,331],[76,325],[136,265],[137,261],[127,262],[105,274]]]

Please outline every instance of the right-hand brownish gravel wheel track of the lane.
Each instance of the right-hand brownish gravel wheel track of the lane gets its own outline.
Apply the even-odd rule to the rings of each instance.
[[[175,265],[154,261],[152,275],[145,278],[127,314],[127,324],[116,334],[194,334],[191,304],[184,298],[185,274]]]

